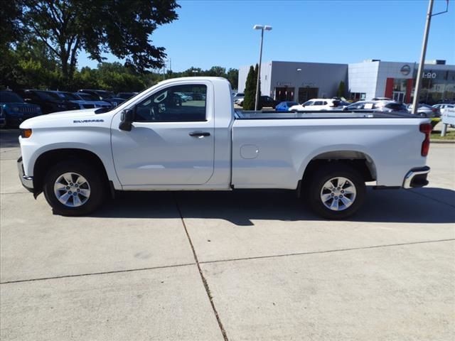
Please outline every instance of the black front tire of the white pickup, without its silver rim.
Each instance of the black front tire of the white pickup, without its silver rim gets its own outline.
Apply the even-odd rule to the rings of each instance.
[[[102,172],[100,172],[97,168],[88,166],[84,162],[85,161],[82,160],[63,161],[50,168],[50,171],[48,171],[48,173],[45,175],[43,193],[45,199],[53,208],[53,212],[55,214],[66,216],[88,215],[91,212],[97,210],[97,208],[100,207],[104,202],[107,185],[105,179],[103,178]],[[80,206],[69,207],[68,205],[64,205],[58,200],[58,197],[54,193],[54,185],[56,181],[58,178],[60,178],[61,175],[65,173],[75,173],[77,175],[82,175],[89,186],[88,188],[90,189],[90,195],[88,195],[88,197],[78,196],[82,198],[81,202],[83,202]],[[82,185],[80,187],[80,190],[83,190]],[[60,193],[65,194],[65,190]],[[74,193],[71,194],[74,195]],[[70,198],[70,200],[74,199]],[[69,205],[72,203],[73,202],[71,201],[68,202]]]

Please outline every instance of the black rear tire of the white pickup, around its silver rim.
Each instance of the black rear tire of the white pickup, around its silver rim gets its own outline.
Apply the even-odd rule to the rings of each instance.
[[[323,186],[329,180],[336,178],[346,178],[348,180],[348,182],[345,183],[344,188],[335,188],[335,192],[323,190]],[[337,185],[337,181],[338,180],[333,180],[333,184]],[[348,193],[348,191],[352,191],[350,185],[353,185],[355,195]],[[348,188],[350,190],[347,190]],[[341,191],[343,191],[343,194],[341,194]],[[302,189],[302,192],[304,193],[301,193],[301,196],[307,198],[307,204],[316,215],[330,220],[345,219],[354,215],[363,204],[366,193],[365,180],[363,180],[363,176],[360,175],[355,168],[343,163],[333,162],[317,168],[310,175],[308,181],[306,181],[306,185]],[[324,195],[328,194],[333,197],[329,197],[326,204],[324,204],[322,199],[323,193]],[[341,197],[338,198],[337,195],[341,195],[341,197],[344,195],[345,201],[352,201],[350,206],[346,207],[342,201],[343,199],[341,199]],[[339,203],[339,210],[332,210],[330,207],[326,207],[326,205],[332,205],[335,198],[337,198],[336,201]],[[334,207],[336,207],[336,205]]]

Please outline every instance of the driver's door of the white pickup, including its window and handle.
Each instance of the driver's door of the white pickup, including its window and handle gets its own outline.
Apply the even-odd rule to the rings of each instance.
[[[112,121],[112,156],[123,186],[202,185],[213,174],[210,82],[168,85],[130,107],[131,131]]]

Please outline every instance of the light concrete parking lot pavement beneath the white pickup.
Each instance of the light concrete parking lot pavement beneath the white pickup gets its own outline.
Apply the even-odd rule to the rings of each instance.
[[[1,340],[455,340],[455,144],[346,221],[288,191],[121,193],[53,215],[0,131]]]

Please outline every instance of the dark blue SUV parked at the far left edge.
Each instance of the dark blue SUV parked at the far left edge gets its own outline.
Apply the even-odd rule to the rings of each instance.
[[[19,126],[26,119],[43,114],[39,105],[28,104],[16,92],[9,90],[0,91],[0,107],[4,126]]]

